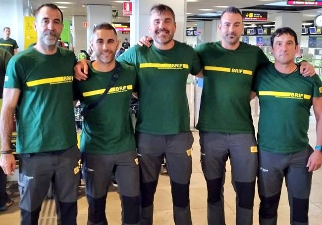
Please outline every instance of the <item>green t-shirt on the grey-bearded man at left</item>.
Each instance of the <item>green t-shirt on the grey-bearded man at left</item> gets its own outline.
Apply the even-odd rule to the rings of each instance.
[[[37,153],[76,144],[73,108],[72,51],[57,48],[53,55],[34,47],[13,56],[4,88],[20,90],[16,107],[18,153]]]

